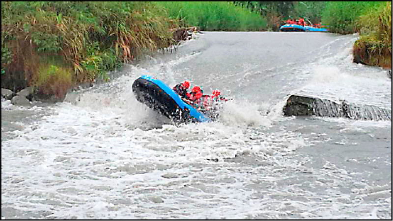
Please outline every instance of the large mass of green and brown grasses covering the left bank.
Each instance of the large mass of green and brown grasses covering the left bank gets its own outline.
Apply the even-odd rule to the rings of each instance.
[[[155,2],[2,1],[2,87],[45,94],[70,77],[105,79],[122,62],[172,45],[176,25]]]

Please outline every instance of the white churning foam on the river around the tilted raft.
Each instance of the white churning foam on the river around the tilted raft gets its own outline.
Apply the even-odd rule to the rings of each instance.
[[[312,156],[297,155],[299,148],[320,142],[309,139],[319,134],[289,131],[296,118],[282,117],[284,98],[277,103],[233,99],[218,121],[179,126],[135,99],[131,87],[141,74],[178,83],[183,75],[172,67],[187,59],[192,56],[166,64],[157,59],[149,70],[130,66],[111,82],[81,92],[75,102],[23,107],[50,114],[18,124],[25,128],[2,140],[2,203],[21,213],[53,213],[47,219],[380,219],[377,207],[382,218],[391,219],[390,185],[372,187],[354,179],[359,172],[328,161],[313,162],[322,164],[314,167]],[[338,88],[351,81],[389,88],[382,78],[359,79],[340,64],[303,71],[290,77],[310,74],[303,90],[326,96],[344,95]],[[2,102],[2,108],[8,106],[17,108]],[[337,133],[391,127],[390,122],[320,120],[336,121]],[[330,141],[330,134],[320,135]],[[345,192],[351,188],[356,194]],[[381,198],[364,202],[368,196]]]

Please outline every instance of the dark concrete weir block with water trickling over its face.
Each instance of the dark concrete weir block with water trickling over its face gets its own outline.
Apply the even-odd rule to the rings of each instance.
[[[291,95],[283,107],[284,116],[318,116],[354,120],[392,120],[392,110],[373,105],[359,105],[345,100]]]

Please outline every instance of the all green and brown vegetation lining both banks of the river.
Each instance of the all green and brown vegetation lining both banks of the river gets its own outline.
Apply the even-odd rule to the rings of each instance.
[[[391,67],[391,1],[1,1],[1,85],[61,97],[174,45],[179,27],[278,31],[288,18],[359,32],[354,51],[364,62]]]

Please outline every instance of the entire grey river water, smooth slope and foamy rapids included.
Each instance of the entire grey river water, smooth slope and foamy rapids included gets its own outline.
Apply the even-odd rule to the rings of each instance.
[[[2,219],[392,219],[392,122],[284,117],[292,95],[392,109],[357,35],[204,32],[64,102],[1,100]],[[138,102],[142,74],[232,98],[179,126]]]

